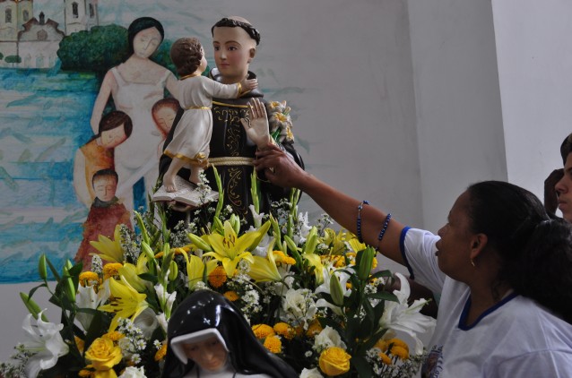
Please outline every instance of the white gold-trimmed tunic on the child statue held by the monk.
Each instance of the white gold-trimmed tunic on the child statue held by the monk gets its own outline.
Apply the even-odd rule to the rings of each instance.
[[[235,99],[239,84],[221,84],[204,76],[191,76],[177,83],[175,95],[185,113],[181,117],[173,140],[165,149],[170,158],[186,163],[203,164],[209,156],[212,134],[212,98]]]

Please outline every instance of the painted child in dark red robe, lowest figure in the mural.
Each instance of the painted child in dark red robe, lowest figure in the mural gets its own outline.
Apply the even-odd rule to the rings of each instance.
[[[98,252],[91,241],[97,241],[100,235],[112,238],[118,224],[132,228],[131,213],[116,197],[117,181],[117,172],[113,169],[101,169],[93,175],[95,200],[83,223],[82,244],[74,258],[75,262],[83,262],[83,271],[91,270],[91,253]]]

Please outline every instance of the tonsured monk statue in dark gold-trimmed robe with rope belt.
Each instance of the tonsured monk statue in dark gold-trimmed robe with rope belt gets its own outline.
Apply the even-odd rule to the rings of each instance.
[[[256,56],[256,46],[260,42],[260,33],[250,22],[241,17],[223,18],[212,26],[212,46],[214,47],[214,62],[217,68],[213,68],[209,76],[225,84],[236,84],[245,78],[256,79],[256,75],[248,71],[249,64]],[[248,104],[252,99],[262,99],[263,93],[259,90],[251,90],[238,99],[213,99],[212,101],[212,137],[210,142],[209,164],[215,166],[221,175],[222,189],[224,190],[224,202],[232,207],[235,213],[252,222],[252,215],[248,206],[252,204],[250,194],[250,177],[253,173],[253,161],[257,146],[265,148],[270,141],[270,131],[266,126],[265,133],[260,133],[256,140],[248,137],[241,118],[247,118]],[[276,123],[274,119],[280,117],[273,108],[280,108],[282,104],[267,104],[270,127]],[[169,145],[173,133],[176,132],[178,121],[182,116],[179,112],[171,133],[165,142]],[[301,157],[293,146],[293,137],[290,133],[290,125],[280,125],[281,135],[277,138],[278,145],[288,152],[290,157],[300,167],[304,167]],[[283,133],[282,133],[283,132]],[[163,155],[160,159],[160,172],[164,173],[169,168],[171,159]],[[179,176],[188,177],[189,173]],[[216,190],[213,171],[210,168],[205,174]],[[263,177],[264,178],[264,177]],[[268,213],[270,203],[287,198],[290,190],[270,183],[261,182],[260,185],[260,209]],[[180,209],[180,208],[179,208]],[[178,220],[184,220],[185,214],[173,213],[169,219],[169,225],[174,226]]]

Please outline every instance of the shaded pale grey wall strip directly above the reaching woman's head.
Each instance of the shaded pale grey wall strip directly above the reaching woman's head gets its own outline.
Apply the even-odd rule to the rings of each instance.
[[[410,0],[423,224],[477,181],[507,179],[490,2]]]

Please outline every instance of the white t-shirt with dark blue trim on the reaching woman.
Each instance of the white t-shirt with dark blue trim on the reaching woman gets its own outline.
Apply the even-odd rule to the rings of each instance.
[[[428,231],[403,230],[402,253],[412,278],[441,293],[421,376],[572,377],[572,325],[533,300],[510,294],[466,324],[470,289],[439,271],[437,241]]]

